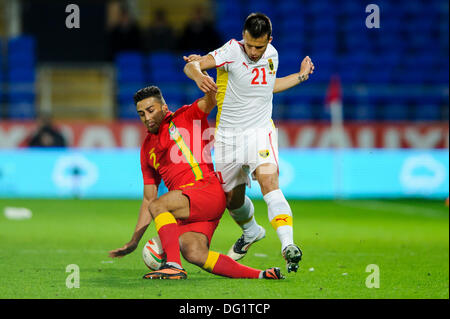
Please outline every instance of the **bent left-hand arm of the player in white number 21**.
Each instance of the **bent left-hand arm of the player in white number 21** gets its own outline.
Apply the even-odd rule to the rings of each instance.
[[[203,71],[216,67],[216,61],[211,55],[199,57],[197,55],[190,55],[183,57],[188,63],[184,66],[184,73],[188,78],[194,80],[198,88],[203,93],[217,91],[217,85],[211,77],[205,75]]]

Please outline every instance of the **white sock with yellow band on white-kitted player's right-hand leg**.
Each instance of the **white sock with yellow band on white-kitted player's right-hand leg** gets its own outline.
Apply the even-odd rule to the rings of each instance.
[[[286,246],[294,244],[291,207],[281,189],[264,195],[264,201],[267,204],[269,221],[277,232],[283,251]]]

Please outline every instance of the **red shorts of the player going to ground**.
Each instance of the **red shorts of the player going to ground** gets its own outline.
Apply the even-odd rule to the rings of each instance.
[[[190,215],[188,219],[179,219],[179,235],[186,232],[205,234],[211,244],[211,238],[226,208],[225,193],[216,176],[208,177],[180,187],[183,195],[189,198]]]

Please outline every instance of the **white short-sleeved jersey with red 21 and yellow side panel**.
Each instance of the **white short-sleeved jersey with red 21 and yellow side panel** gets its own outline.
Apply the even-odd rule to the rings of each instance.
[[[243,40],[233,39],[209,54],[217,68],[217,133],[270,125],[277,50],[269,43],[261,59],[253,62],[244,51]]]

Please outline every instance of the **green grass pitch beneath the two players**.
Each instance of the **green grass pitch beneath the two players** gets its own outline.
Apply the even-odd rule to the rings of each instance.
[[[295,240],[304,259],[283,281],[228,279],[184,262],[187,281],[141,279],[139,248],[123,259],[107,252],[127,242],[139,201],[0,200],[27,207],[29,220],[0,215],[0,298],[449,298],[448,208],[439,201],[290,201]],[[280,244],[255,201],[267,236],[242,260],[264,269],[285,264]],[[154,226],[145,238],[156,234]],[[212,249],[226,253],[240,229],[225,213]],[[68,289],[69,264],[80,268],[80,288]],[[380,269],[369,289],[366,266]],[[313,268],[314,270],[312,271]],[[285,272],[285,271],[284,271]]]

